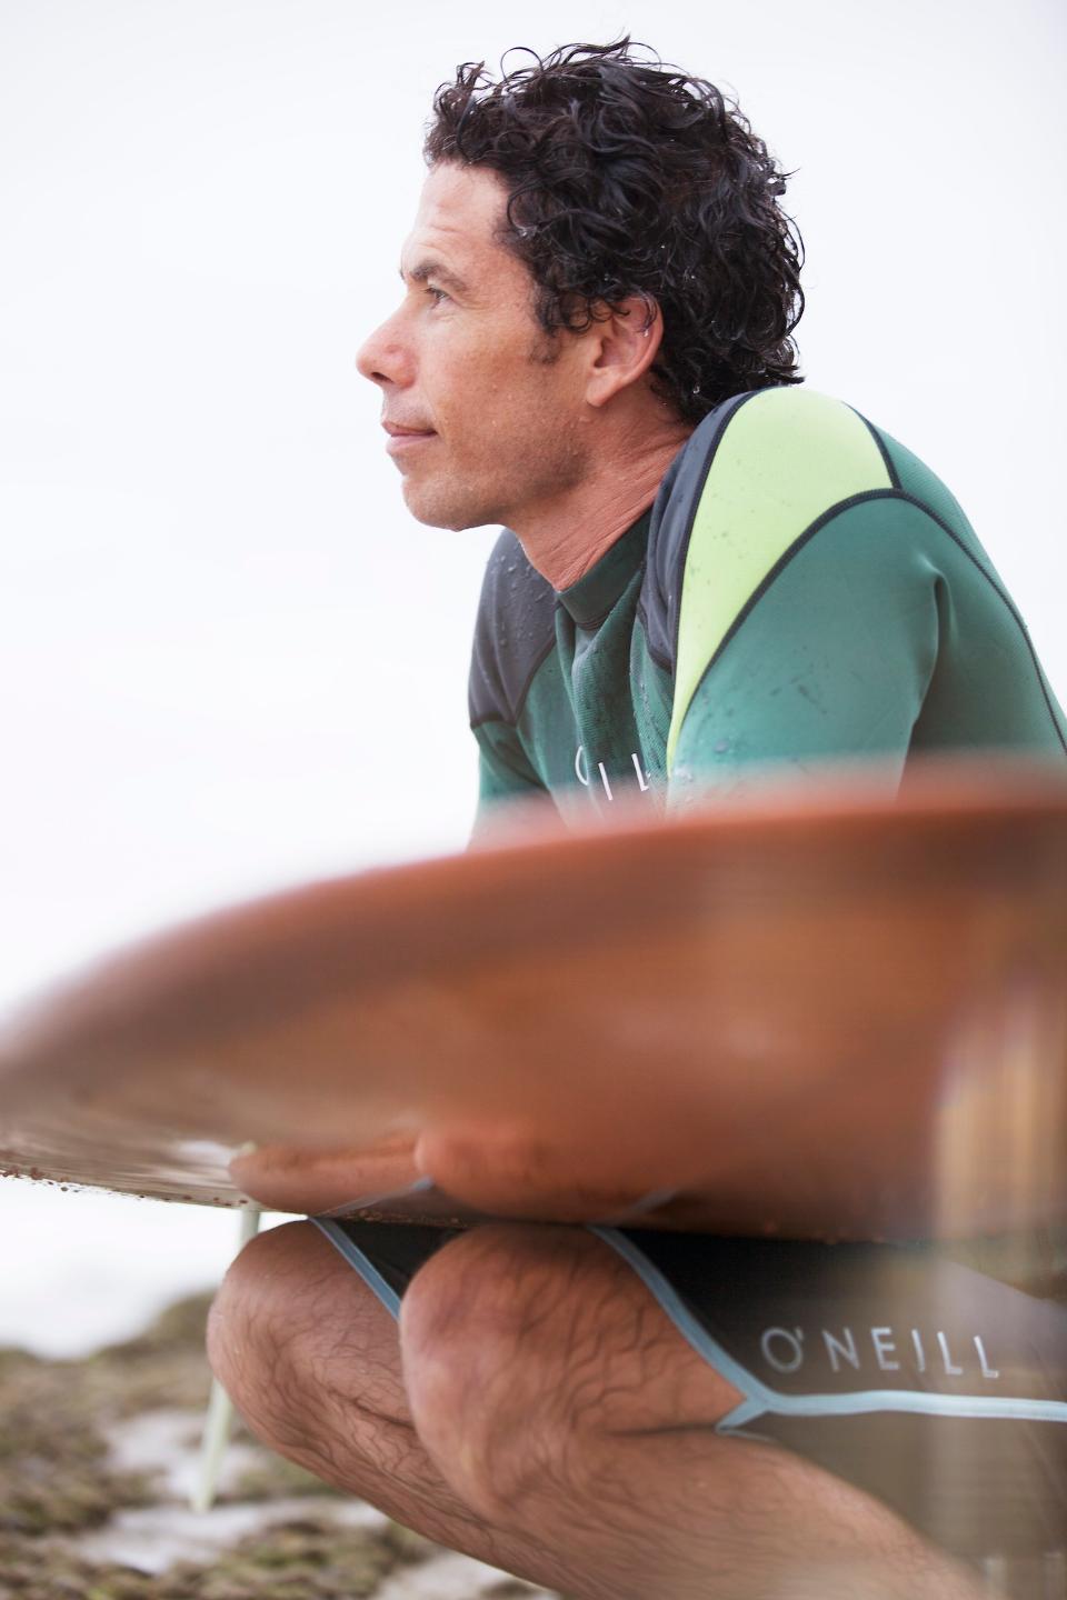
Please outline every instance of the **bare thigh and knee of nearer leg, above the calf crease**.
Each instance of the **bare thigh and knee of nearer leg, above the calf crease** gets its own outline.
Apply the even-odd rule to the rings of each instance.
[[[491,1222],[453,1235],[400,1309],[408,1395],[466,1430],[621,1435],[713,1427],[742,1398],[630,1266],[584,1229]]]

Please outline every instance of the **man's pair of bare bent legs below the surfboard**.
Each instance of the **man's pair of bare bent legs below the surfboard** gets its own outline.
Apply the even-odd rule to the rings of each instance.
[[[885,1507],[713,1422],[736,1390],[605,1245],[488,1226],[397,1326],[310,1224],[253,1242],[211,1362],[283,1454],[430,1538],[582,1600],[974,1590]]]

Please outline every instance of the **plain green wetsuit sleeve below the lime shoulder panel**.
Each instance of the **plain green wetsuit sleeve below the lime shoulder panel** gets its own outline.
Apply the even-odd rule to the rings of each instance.
[[[694,686],[675,702],[672,806],[849,757],[880,760],[896,787],[937,664],[937,538],[921,507],[875,494],[789,547],[725,629],[697,590],[681,610]]]

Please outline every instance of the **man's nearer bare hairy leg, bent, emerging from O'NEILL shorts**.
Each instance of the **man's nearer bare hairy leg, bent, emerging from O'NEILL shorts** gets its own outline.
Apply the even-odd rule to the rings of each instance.
[[[729,1293],[729,1286],[723,1286]],[[402,1358],[442,1477],[584,1600],[973,1595],[885,1506],[713,1424],[741,1395],[595,1237],[486,1226],[413,1280]]]

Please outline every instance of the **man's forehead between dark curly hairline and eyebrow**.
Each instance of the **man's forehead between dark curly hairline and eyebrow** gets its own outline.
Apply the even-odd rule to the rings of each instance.
[[[429,250],[472,269],[518,266],[496,237],[506,203],[507,189],[496,173],[440,162],[422,184],[414,226],[403,245],[403,270],[416,266],[416,258]]]

